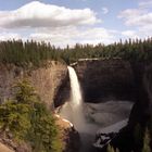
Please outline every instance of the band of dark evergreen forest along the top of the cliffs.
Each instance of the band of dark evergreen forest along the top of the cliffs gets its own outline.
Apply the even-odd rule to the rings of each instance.
[[[76,62],[78,59],[91,58],[122,58],[129,61],[152,60],[152,38],[145,40],[126,40],[113,45],[76,45],[64,49],[55,48],[50,43],[13,40],[0,41],[0,62],[14,63],[20,66],[27,66],[29,63],[41,66],[46,61],[60,61],[66,64]]]

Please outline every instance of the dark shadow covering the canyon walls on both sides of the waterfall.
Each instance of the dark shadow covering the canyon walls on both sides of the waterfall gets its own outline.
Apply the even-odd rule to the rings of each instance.
[[[77,62],[74,68],[81,85],[85,102],[99,103],[107,100],[135,102],[128,125],[111,143],[119,148],[121,152],[130,152],[132,149],[140,152],[142,144],[135,147],[134,131],[139,124],[143,132],[152,115],[152,65],[121,59],[84,60]],[[55,106],[68,100],[68,75],[56,94]]]

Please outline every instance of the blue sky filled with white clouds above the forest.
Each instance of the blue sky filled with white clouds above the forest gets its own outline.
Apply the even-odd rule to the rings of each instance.
[[[152,36],[152,0],[0,0],[0,40],[56,47]]]

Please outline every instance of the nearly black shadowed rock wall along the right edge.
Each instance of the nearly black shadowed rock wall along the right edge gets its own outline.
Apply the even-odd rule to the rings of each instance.
[[[141,152],[142,139],[136,142],[135,132],[140,129],[140,136],[144,135],[145,128],[151,130],[152,121],[152,64],[137,62],[131,63],[137,86],[136,102],[130,112],[128,124],[113,138],[111,144],[122,152]],[[152,149],[152,142],[150,142]]]

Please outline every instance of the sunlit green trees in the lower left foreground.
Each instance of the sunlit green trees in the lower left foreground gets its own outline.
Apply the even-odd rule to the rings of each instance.
[[[0,105],[0,130],[16,142],[27,142],[34,152],[61,152],[55,119],[27,80],[14,86],[14,100]]]

